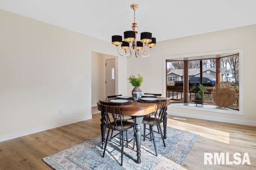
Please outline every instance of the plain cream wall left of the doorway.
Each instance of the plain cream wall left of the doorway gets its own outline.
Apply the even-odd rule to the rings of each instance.
[[[116,55],[109,42],[0,10],[0,141],[90,119],[92,51]],[[118,70],[127,74],[126,59]]]

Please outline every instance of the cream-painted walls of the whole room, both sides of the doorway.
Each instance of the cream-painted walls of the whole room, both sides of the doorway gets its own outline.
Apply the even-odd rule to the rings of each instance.
[[[252,25],[158,42],[148,58],[117,57],[118,94],[130,95],[131,74],[144,76],[143,92],[163,93],[166,56],[244,49],[244,115],[174,107],[168,114],[256,125],[255,39]],[[92,52],[117,55],[109,42],[0,10],[0,141],[90,119]]]

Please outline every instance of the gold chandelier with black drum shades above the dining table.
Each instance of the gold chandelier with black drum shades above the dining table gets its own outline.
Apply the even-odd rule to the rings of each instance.
[[[132,31],[124,32],[124,41],[122,41],[121,35],[112,36],[112,44],[116,46],[117,52],[120,56],[132,57],[148,57],[151,54],[151,48],[156,46],[156,38],[152,38],[152,33],[142,32],[140,33],[140,41],[136,41],[136,36],[138,34],[137,23],[135,22],[135,10],[139,7],[138,4],[131,4],[130,7],[134,10],[134,22],[132,23]],[[124,55],[120,54],[118,51],[118,46],[124,49]],[[146,54],[146,50],[149,47],[150,52]]]

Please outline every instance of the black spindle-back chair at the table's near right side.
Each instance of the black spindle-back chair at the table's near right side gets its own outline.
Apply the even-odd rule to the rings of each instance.
[[[163,116],[164,116],[164,112],[166,111],[167,101],[168,99],[158,100],[157,109],[156,111],[154,111],[154,115],[152,117],[145,116],[142,121],[142,123],[144,124],[144,133],[142,135],[143,140],[145,141],[145,138],[150,139],[150,141],[153,140],[156,156],[157,156],[157,150],[156,150],[156,141],[155,141],[155,135],[154,135],[155,132],[160,133],[162,137],[162,141],[164,143],[164,147],[166,147],[160,123],[163,122]],[[146,128],[146,125],[149,125],[149,128]],[[154,126],[156,126],[159,129],[159,132],[154,131],[154,128],[153,128]],[[149,130],[148,134],[146,134],[146,130]]]

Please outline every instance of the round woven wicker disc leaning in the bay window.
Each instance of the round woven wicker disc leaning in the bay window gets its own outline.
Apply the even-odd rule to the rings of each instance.
[[[230,107],[237,102],[238,87],[231,82],[220,82],[212,90],[212,99],[219,107]]]

